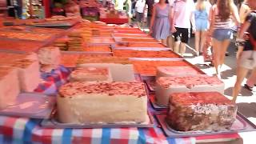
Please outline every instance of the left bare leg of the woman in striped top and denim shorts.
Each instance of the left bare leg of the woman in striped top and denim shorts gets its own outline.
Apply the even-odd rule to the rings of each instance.
[[[221,55],[220,49],[222,49],[222,42],[213,38],[213,46],[214,46],[214,67],[215,67],[218,78],[220,78],[220,55]]]

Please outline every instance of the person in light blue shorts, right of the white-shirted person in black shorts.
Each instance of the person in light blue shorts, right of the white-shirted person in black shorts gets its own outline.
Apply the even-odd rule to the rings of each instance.
[[[210,2],[198,0],[195,4],[195,51],[196,55],[202,54],[202,47],[206,43],[206,33],[209,28]]]

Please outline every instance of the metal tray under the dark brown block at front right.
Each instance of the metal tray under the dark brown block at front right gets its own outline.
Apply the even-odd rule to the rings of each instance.
[[[256,126],[250,122],[244,115],[241,113],[237,113],[236,120],[231,126],[230,130],[198,130],[198,131],[177,131],[172,129],[170,126],[166,124],[166,113],[157,113],[155,117],[160,124],[164,134],[170,138],[182,138],[182,137],[195,137],[195,136],[203,136],[203,135],[214,135],[214,134],[234,134],[238,132],[248,132],[248,131],[256,131]]]

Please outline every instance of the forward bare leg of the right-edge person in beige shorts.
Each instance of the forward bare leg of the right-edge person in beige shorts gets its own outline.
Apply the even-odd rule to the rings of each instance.
[[[233,99],[232,101],[236,101],[238,94],[240,93],[241,90],[241,84],[244,78],[246,78],[246,74],[248,73],[248,69],[243,68],[241,66],[238,66],[237,68],[237,81],[234,84],[234,89],[233,89]]]

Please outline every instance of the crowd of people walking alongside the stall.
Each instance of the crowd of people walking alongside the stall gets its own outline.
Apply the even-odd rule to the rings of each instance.
[[[237,80],[233,90],[235,101],[249,70],[246,88],[256,83],[256,2],[244,0],[137,0],[132,1],[138,25],[146,21],[150,34],[162,44],[183,56],[190,34],[194,33],[194,55],[212,49],[216,76],[222,78],[226,51],[237,30]],[[145,14],[145,11],[147,13]],[[171,41],[173,39],[174,42]],[[210,45],[210,46],[209,46]]]

